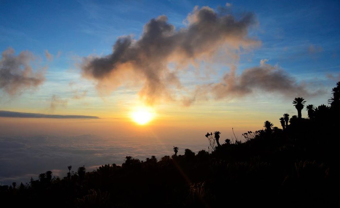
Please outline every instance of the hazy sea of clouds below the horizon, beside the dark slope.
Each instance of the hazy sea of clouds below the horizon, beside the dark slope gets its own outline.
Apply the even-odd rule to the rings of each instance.
[[[94,135],[81,136],[1,136],[0,184],[27,183],[38,179],[38,174],[51,170],[54,176],[63,178],[68,171],[85,165],[87,171],[104,164],[124,162],[127,155],[140,160],[155,155],[160,160],[172,155],[173,146],[179,154],[189,148],[195,152],[208,147],[208,142],[150,141],[146,139],[113,139]]]

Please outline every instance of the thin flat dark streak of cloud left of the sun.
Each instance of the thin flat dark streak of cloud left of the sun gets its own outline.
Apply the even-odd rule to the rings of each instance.
[[[11,118],[51,118],[51,119],[99,119],[97,116],[79,116],[79,115],[49,115],[43,113],[25,113],[0,110],[0,117]]]

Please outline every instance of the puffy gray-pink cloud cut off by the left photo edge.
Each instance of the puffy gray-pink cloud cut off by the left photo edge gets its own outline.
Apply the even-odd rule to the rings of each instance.
[[[0,89],[13,96],[41,85],[45,81],[45,68],[33,71],[31,63],[34,61],[29,51],[15,56],[12,48],[4,50],[0,60]]]

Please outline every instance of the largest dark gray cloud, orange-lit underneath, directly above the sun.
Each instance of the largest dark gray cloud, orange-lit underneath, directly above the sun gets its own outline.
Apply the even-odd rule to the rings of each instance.
[[[126,82],[142,81],[141,99],[152,104],[171,97],[171,88],[181,87],[176,71],[169,63],[186,65],[195,60],[209,60],[218,51],[238,57],[240,48],[260,42],[248,37],[254,15],[236,19],[218,14],[209,7],[195,7],[187,17],[187,27],[176,30],[166,16],[151,19],[140,39],[118,38],[113,53],[104,57],[84,58],[83,76],[98,81],[98,89],[111,91]]]

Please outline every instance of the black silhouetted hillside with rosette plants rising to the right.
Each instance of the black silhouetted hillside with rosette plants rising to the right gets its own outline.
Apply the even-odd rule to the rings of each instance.
[[[171,156],[126,156],[91,172],[65,164],[64,178],[47,171],[26,185],[0,186],[0,200],[12,207],[339,207],[340,82],[332,94],[317,107],[295,98],[297,116],[283,112],[280,128],[265,121],[243,133],[244,142],[214,131],[205,134],[209,151],[197,154],[173,147]]]

